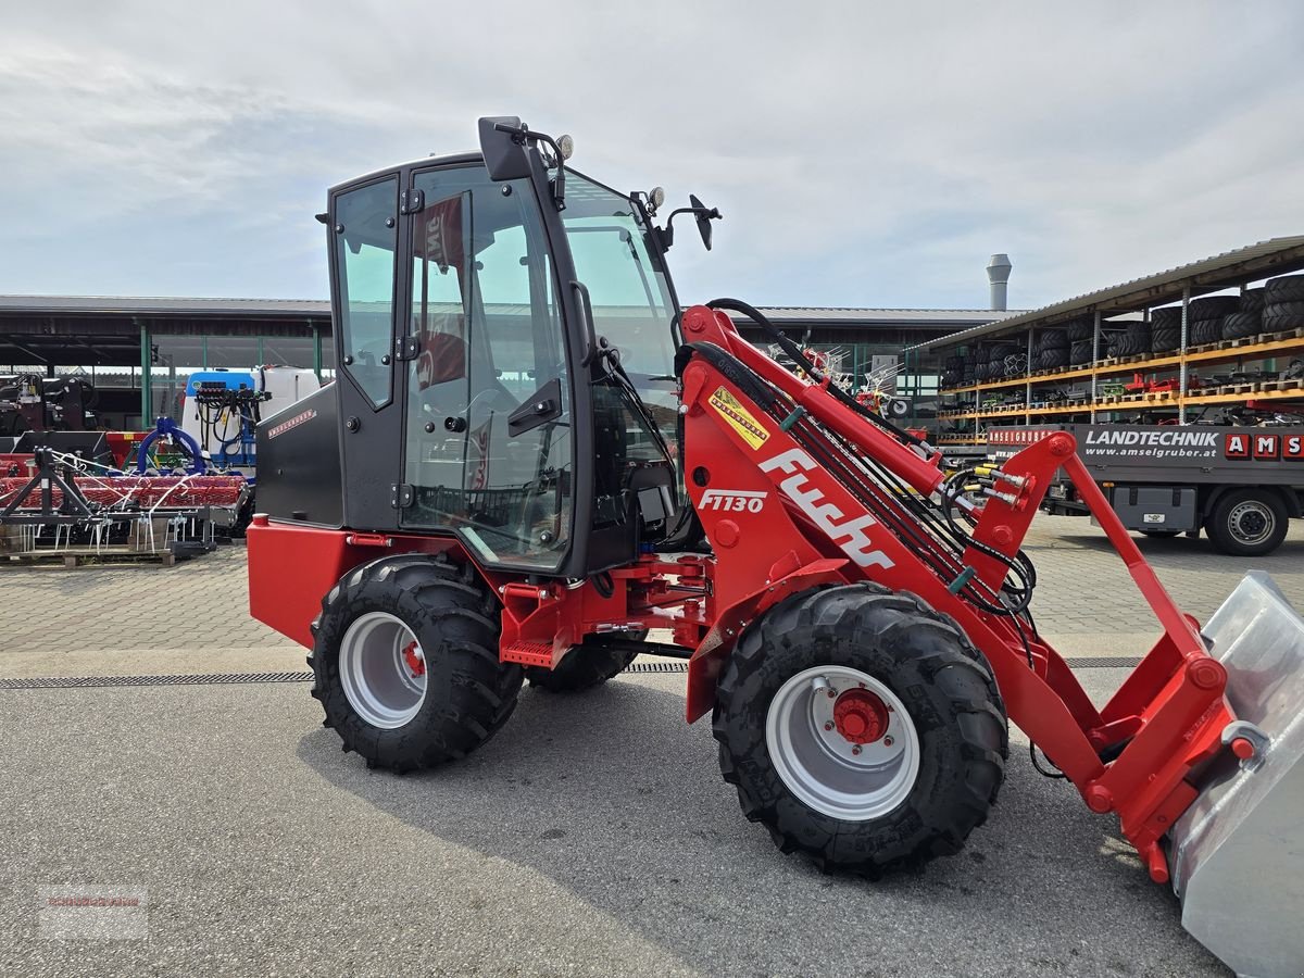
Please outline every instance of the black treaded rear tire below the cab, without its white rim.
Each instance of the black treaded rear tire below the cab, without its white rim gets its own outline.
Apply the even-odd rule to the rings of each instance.
[[[421,643],[426,691],[420,712],[391,730],[353,711],[339,678],[339,645],[366,612],[400,619]],[[516,708],[522,668],[498,659],[498,608],[475,569],[426,554],[398,554],[346,574],[322,599],[308,664],[312,695],[346,752],[396,773],[458,760],[489,741]]]

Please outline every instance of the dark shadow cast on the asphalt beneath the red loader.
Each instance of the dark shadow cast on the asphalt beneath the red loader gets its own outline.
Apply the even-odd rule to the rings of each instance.
[[[747,823],[707,724],[685,725],[669,689],[527,689],[493,742],[417,776],[368,771],[325,729],[297,752],[330,785],[548,878],[705,973],[1227,974],[1114,820],[1034,773],[1026,746],[960,855],[871,884],[822,875]]]

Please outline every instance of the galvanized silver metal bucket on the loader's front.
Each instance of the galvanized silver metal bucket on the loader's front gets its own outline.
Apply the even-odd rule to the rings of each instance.
[[[1168,832],[1181,926],[1237,975],[1304,966],[1304,619],[1251,571],[1204,632],[1227,669],[1234,751]],[[1236,743],[1236,741],[1248,742]]]

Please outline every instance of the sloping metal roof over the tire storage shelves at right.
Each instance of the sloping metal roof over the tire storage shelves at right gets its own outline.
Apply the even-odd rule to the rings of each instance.
[[[1179,301],[1187,287],[1191,288],[1192,296],[1200,296],[1273,275],[1286,275],[1300,269],[1304,269],[1304,235],[1273,237],[1189,265],[1179,265],[1154,275],[1086,292],[1041,309],[1011,316],[1007,319],[928,339],[908,347],[908,351],[951,347],[982,336],[1016,333],[1029,326],[1063,322],[1097,310],[1104,316],[1115,316],[1150,309]]]

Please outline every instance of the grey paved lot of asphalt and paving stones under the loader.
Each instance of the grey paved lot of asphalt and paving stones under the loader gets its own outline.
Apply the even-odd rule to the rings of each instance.
[[[1071,655],[1137,655],[1099,531],[1039,520],[1034,609]],[[1253,562],[1142,541],[1206,617],[1247,566],[1304,606],[1304,533]],[[245,617],[243,552],[0,572],[0,677],[300,670]],[[1123,670],[1082,670],[1106,695]],[[303,683],[0,691],[0,974],[1230,974],[1116,824],[1017,734],[966,850],[879,884],[773,849],[682,722],[682,675],[527,690],[484,750],[369,772]],[[146,891],[147,940],[50,940],[44,887]]]

